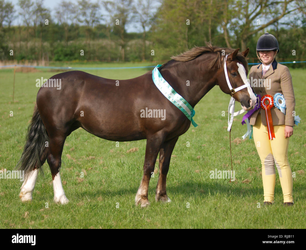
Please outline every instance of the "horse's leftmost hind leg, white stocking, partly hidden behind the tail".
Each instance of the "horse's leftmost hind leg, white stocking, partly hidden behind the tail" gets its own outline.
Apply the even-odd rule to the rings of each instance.
[[[48,154],[49,148],[46,147],[43,150],[43,155],[40,157],[40,165],[43,166],[43,164],[45,163],[46,159],[47,159],[47,154]],[[32,170],[32,172],[30,172],[27,176],[27,178],[24,180],[24,182],[22,183],[21,186],[21,190],[20,190],[20,194],[19,194],[19,198],[21,199],[21,201],[32,201],[32,193],[35,187],[35,183],[36,183],[36,179],[38,176],[38,165],[36,163],[34,169]]]

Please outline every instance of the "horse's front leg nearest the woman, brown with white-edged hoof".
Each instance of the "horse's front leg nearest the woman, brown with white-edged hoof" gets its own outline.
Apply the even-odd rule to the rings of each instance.
[[[170,141],[164,142],[159,151],[159,176],[156,187],[155,201],[170,202],[166,192],[166,180],[170,165],[171,154],[173,152],[178,136]]]

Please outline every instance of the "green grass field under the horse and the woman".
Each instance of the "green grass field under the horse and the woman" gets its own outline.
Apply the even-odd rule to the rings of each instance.
[[[111,64],[111,67],[118,66],[141,64]],[[87,72],[120,80],[148,70]],[[45,175],[39,175],[31,203],[22,203],[18,197],[20,180],[0,179],[0,228],[305,228],[306,70],[292,69],[290,72],[296,113],[302,118],[302,122],[294,127],[288,153],[291,169],[296,174],[293,178],[293,207],[282,206],[278,173],[275,204],[263,206],[261,165],[254,141],[234,142],[246,132],[240,123],[241,116],[235,119],[231,133],[236,180],[230,183],[229,179],[209,178],[210,170],[231,168],[229,132],[226,131],[230,96],[217,86],[195,107],[194,120],[199,126],[191,126],[174,148],[167,179],[171,203],[155,202],[156,163],[155,177],[149,185],[151,205],[141,208],[134,204],[143,175],[145,140],[122,142],[116,147],[115,142],[77,129],[66,139],[62,154],[61,177],[69,203],[54,204],[52,178],[46,162]],[[15,102],[12,102],[13,70],[0,71],[0,169],[13,170],[21,157],[38,91],[35,79],[49,78],[57,73],[47,70],[17,72]],[[10,111],[13,111],[13,117]],[[226,111],[225,116],[222,111]],[[186,147],[186,142],[190,147]],[[139,150],[127,153],[135,147]]]

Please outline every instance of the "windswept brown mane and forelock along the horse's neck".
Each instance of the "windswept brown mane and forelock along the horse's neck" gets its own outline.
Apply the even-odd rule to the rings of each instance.
[[[206,47],[202,46],[202,47],[194,47],[192,49],[189,49],[187,51],[185,51],[184,53],[181,53],[181,55],[177,55],[177,56],[172,56],[171,59],[175,60],[175,61],[180,61],[180,62],[187,62],[190,60],[195,59],[196,57],[204,54],[204,53],[217,53],[217,57],[211,61],[211,63],[209,64],[209,69],[212,69],[214,67],[217,68],[223,68],[223,56],[222,56],[222,52],[224,52],[225,54],[230,54],[233,51],[235,51],[235,49],[231,49],[231,48],[221,48],[221,47],[217,47],[217,46],[212,46],[210,42],[206,42]],[[239,60],[242,65],[244,66],[245,69],[248,69],[248,62],[245,59],[245,57],[239,52],[237,54],[237,60]]]

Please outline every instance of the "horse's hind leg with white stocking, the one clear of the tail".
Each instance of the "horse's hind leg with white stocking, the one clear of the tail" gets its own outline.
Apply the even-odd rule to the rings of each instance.
[[[55,203],[66,204],[68,199],[65,195],[62,180],[60,176],[60,168],[62,164],[62,152],[66,136],[64,134],[50,137],[50,154],[47,157],[51,175],[53,179],[53,190]]]

